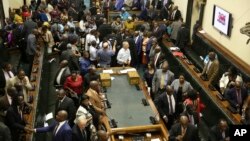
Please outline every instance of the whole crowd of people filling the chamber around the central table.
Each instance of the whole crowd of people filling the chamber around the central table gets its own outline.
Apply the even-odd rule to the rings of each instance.
[[[141,11],[131,15],[127,9]],[[120,14],[109,19],[109,10]],[[150,88],[150,96],[169,130],[170,140],[200,140],[199,123],[206,106],[184,74],[175,79],[175,72],[169,70],[160,46],[164,34],[181,50],[189,44],[189,30],[178,6],[171,0],[103,0],[86,4],[76,0],[37,3],[32,0],[31,5],[10,12],[1,30],[1,48],[20,48],[21,59],[29,68],[15,73],[10,63],[2,65],[0,129],[4,129],[4,141],[22,141],[27,133],[49,131],[53,132],[54,141],[107,141],[112,133],[103,127],[106,96],[96,69],[115,66],[144,70],[145,85]],[[142,20],[142,24],[136,24]],[[170,22],[166,25],[159,20]],[[53,124],[33,128],[23,115],[29,114],[32,108],[29,103],[33,99],[28,91],[33,87],[29,77],[34,56],[40,55],[42,47],[46,56],[59,56],[60,65],[54,78],[56,116]],[[219,60],[214,52],[208,56],[202,77],[213,85],[218,77]],[[243,85],[237,70],[230,68],[219,86],[249,124],[249,84]],[[227,121],[218,121],[211,133],[214,140],[228,141]]]

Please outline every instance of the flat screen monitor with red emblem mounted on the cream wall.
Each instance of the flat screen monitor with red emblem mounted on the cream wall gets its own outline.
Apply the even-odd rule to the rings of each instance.
[[[226,10],[214,5],[213,26],[221,33],[230,36],[231,34],[232,14]]]

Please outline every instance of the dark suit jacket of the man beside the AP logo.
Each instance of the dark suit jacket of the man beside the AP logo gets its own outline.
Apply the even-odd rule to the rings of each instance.
[[[229,137],[229,128],[225,131],[225,138]],[[218,125],[215,125],[211,128],[211,135],[210,135],[211,141],[224,141],[222,137],[222,132],[220,131],[220,128]]]

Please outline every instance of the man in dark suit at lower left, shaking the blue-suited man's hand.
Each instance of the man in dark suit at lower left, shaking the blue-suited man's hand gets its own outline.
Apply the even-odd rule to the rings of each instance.
[[[7,110],[6,125],[10,128],[12,141],[23,139],[25,131],[30,131],[24,119],[24,97],[18,96]]]

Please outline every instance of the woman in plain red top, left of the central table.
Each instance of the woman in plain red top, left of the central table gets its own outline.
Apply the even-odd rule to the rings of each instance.
[[[72,72],[70,76],[67,77],[64,82],[64,89],[73,91],[80,96],[82,94],[83,78],[77,72]]]

